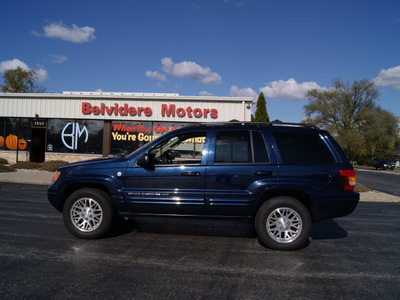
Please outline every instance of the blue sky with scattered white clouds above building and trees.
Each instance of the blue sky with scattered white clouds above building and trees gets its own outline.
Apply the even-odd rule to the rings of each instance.
[[[300,122],[304,93],[374,80],[400,116],[398,0],[4,1],[0,75],[37,71],[47,92],[251,96]]]

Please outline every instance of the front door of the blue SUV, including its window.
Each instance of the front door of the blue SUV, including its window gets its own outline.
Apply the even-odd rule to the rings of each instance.
[[[207,131],[161,140],[147,151],[151,163],[126,170],[124,196],[135,214],[205,215]]]

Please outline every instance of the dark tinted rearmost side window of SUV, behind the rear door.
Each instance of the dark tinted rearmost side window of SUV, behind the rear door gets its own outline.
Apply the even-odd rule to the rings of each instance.
[[[281,158],[286,164],[334,163],[335,159],[317,133],[274,132]]]

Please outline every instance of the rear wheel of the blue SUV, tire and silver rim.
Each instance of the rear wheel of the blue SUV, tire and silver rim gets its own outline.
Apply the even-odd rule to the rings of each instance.
[[[255,227],[264,246],[274,250],[296,250],[303,247],[311,233],[308,209],[292,197],[267,200],[257,212]]]

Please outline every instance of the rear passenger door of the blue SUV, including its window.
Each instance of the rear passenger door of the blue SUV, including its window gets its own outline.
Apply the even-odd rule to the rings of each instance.
[[[266,139],[259,130],[213,132],[206,177],[209,215],[251,216],[260,193],[275,187],[278,167]]]

